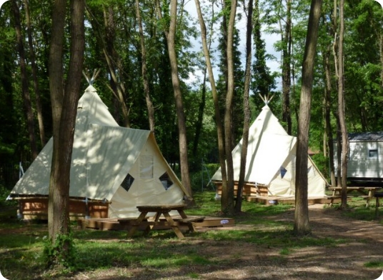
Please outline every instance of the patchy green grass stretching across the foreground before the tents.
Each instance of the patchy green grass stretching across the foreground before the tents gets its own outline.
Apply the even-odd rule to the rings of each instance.
[[[220,202],[214,199],[213,191],[196,193],[197,206],[187,209],[189,215],[221,216]],[[359,203],[360,204],[360,203]],[[243,201],[242,213],[235,216],[242,230],[220,229],[187,235],[184,240],[176,239],[171,231],[151,231],[149,237],[136,237],[126,240],[126,231],[96,231],[76,229],[73,226],[73,239],[76,248],[77,273],[94,273],[120,269],[121,275],[128,275],[134,269],[148,271],[182,271],[190,266],[224,267],[241,255],[222,252],[222,258],[213,254],[200,254],[199,246],[212,244],[220,246],[241,244],[274,249],[278,256],[272,256],[276,264],[287,263],[288,256],[295,250],[315,246],[329,247],[347,243],[347,239],[319,238],[317,236],[294,236],[293,224],[289,221],[276,221],[270,217],[289,211],[292,205],[277,204],[264,206]],[[355,206],[359,211],[359,206]],[[372,207],[370,207],[372,209]],[[370,209],[370,210],[371,210]],[[374,208],[373,208],[374,209]],[[360,214],[363,216],[363,209]],[[372,210],[371,210],[372,211]],[[0,221],[0,271],[6,279],[68,279],[72,274],[59,276],[46,274],[42,251],[47,236],[46,224],[25,224],[21,221]],[[379,267],[382,261],[371,261],[365,266]],[[130,270],[131,269],[131,270]],[[127,271],[127,272],[126,272]],[[100,272],[100,273],[101,273]],[[197,273],[187,274],[191,279],[199,278]],[[64,277],[64,278],[60,278]]]

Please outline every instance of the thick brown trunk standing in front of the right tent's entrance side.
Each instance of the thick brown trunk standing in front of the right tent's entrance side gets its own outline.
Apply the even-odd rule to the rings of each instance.
[[[314,62],[315,54],[317,51],[317,39],[321,10],[322,0],[312,0],[302,65],[302,91],[299,104],[294,216],[294,232],[299,236],[306,235],[311,232],[309,224],[309,207],[307,204],[307,151],[309,144],[312,81],[314,79]]]

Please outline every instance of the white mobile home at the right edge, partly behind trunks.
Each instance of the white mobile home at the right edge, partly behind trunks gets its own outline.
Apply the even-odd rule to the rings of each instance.
[[[337,144],[334,145],[334,167],[337,171]],[[383,181],[383,132],[349,134],[349,181]]]

